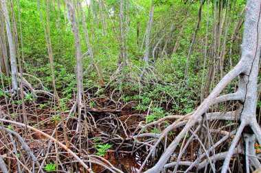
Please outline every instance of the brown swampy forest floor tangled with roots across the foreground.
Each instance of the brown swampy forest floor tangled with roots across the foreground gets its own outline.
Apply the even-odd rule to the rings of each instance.
[[[63,144],[67,144],[68,141],[69,148],[83,160],[87,160],[88,156],[98,157],[97,159],[102,160],[102,163],[108,165],[107,161],[109,161],[115,168],[130,173],[139,170],[150,151],[149,146],[157,141],[157,134],[163,131],[164,127],[172,124],[173,121],[168,120],[160,126],[148,127],[141,131],[141,124],[146,124],[149,113],[133,109],[137,106],[134,102],[124,105],[111,96],[89,98],[88,100],[91,100],[95,105],[90,107],[90,104],[83,103],[86,106],[82,107],[80,116],[78,116],[78,106],[72,100],[59,107],[58,103],[54,104],[52,98],[48,96],[43,95],[36,98],[32,96],[32,98],[26,98],[25,105],[23,105],[19,102],[19,99],[5,96],[0,100],[4,114],[1,116],[16,122],[27,122],[30,127],[43,131],[43,133],[54,137]],[[24,111],[21,111],[23,109]],[[23,115],[26,115],[27,121],[24,121]],[[37,156],[39,163],[44,163],[44,165],[56,163],[58,169],[65,172],[84,172],[80,163],[58,144],[51,142],[49,138],[7,122],[3,122],[3,125],[23,137],[34,155]],[[216,122],[216,127],[224,125],[224,122]],[[231,127],[227,126],[224,130],[229,131],[229,128]],[[168,142],[159,144],[155,153],[144,166],[144,171],[155,165],[163,150],[173,141],[176,134],[179,134],[179,131],[181,131],[179,128],[171,131],[168,135]],[[138,134],[142,135],[143,132],[150,132],[152,137],[134,137]],[[4,139],[1,134],[0,139]],[[153,138],[153,136],[155,137]],[[183,148],[185,138],[173,153],[170,161],[177,159],[179,151]],[[226,151],[232,139],[233,137],[225,144],[218,146],[216,150],[219,150],[219,152]],[[4,146],[5,144],[0,142],[0,155],[6,155],[10,152]],[[198,153],[199,147],[200,144],[196,139],[193,139],[181,160],[195,160],[200,154]],[[23,155],[25,150],[21,150],[19,153]],[[240,166],[242,157],[237,155],[233,159],[234,167]],[[11,163],[10,168],[16,171],[16,162],[10,161],[8,163]],[[220,167],[222,167],[222,163],[220,163]],[[95,163],[91,165],[91,169],[97,173],[108,172],[104,165]]]

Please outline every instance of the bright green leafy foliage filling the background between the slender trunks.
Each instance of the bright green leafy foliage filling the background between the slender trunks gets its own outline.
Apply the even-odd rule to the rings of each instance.
[[[212,13],[213,3],[209,2],[209,11],[206,6],[203,6],[202,10],[202,22],[201,30],[197,34],[197,38],[205,38],[206,23],[209,22],[209,31],[214,27],[212,20],[207,19],[205,16],[209,14],[209,18],[213,18]],[[45,34],[41,23],[41,18],[38,14],[38,6],[36,1],[21,0],[21,28],[23,29],[23,54],[24,62],[23,66],[28,74],[34,74],[36,77],[43,81],[45,86],[44,90],[53,92],[52,72],[48,60],[48,53],[46,49]],[[41,9],[44,20],[47,17],[46,14],[46,2],[40,0]],[[64,3],[64,2],[61,2]],[[99,5],[97,1],[93,1],[93,5]],[[149,106],[150,114],[146,117],[146,122],[153,122],[166,116],[167,114],[189,114],[196,105],[198,105],[201,97],[201,77],[198,74],[207,74],[207,67],[203,72],[203,49],[204,46],[201,43],[201,39],[197,39],[192,55],[190,57],[190,66],[188,77],[184,79],[185,62],[188,55],[188,49],[194,29],[196,28],[196,21],[198,19],[198,8],[201,1],[193,1],[190,5],[184,4],[183,1],[175,0],[153,0],[155,5],[155,12],[153,15],[153,24],[150,33],[150,49],[157,44],[159,38],[163,38],[162,44],[166,45],[166,55],[161,52],[161,48],[158,47],[155,52],[155,58],[150,58],[150,64],[144,63],[144,34],[146,33],[146,23],[148,23],[148,14],[150,10],[150,1],[137,0],[130,1],[130,10],[128,13],[129,30],[126,33],[126,40],[124,42],[126,50],[128,51],[128,65],[117,65],[120,49],[122,46],[122,40],[119,36],[119,13],[120,2],[116,0],[108,0],[106,3],[106,9],[113,9],[114,13],[110,16],[110,20],[106,22],[106,29],[103,29],[102,22],[98,18],[98,26],[96,26],[95,19],[89,12],[88,6],[84,6],[83,10],[88,19],[87,29],[89,30],[89,38],[91,42],[91,48],[94,55],[94,62],[98,64],[102,71],[102,77],[104,79],[104,85],[98,83],[98,73],[93,68],[93,62],[89,55],[82,57],[83,62],[83,87],[84,91],[87,91],[90,96],[93,97],[107,97],[109,93],[113,91],[120,91],[118,95],[116,92],[113,97],[118,97],[118,100],[123,103],[131,103],[131,107],[135,111],[140,113],[146,113]],[[227,3],[227,2],[225,2]],[[16,3],[14,3],[16,5]],[[225,4],[223,4],[225,7]],[[232,21],[237,21],[240,17],[239,14],[243,8],[245,8],[245,1],[239,0],[235,2],[236,12],[232,16]],[[18,8],[14,7],[14,14],[18,16]],[[100,13],[99,8],[97,9]],[[184,21],[186,12],[189,10],[189,16]],[[60,5],[60,10],[50,4],[49,8],[49,27],[50,27],[50,40],[52,41],[53,59],[54,59],[54,77],[56,79],[56,89],[60,97],[59,105],[52,107],[59,111],[67,111],[69,107],[69,100],[75,98],[74,95],[76,89],[76,60],[75,60],[75,43],[73,33],[71,31],[71,24],[66,15],[66,5]],[[106,12],[106,10],[104,10]],[[124,12],[125,14],[125,12]],[[175,14],[175,15],[170,15]],[[207,21],[208,20],[208,21]],[[79,18],[79,24],[82,25]],[[170,33],[170,29],[174,23],[174,31]],[[181,34],[181,40],[179,42],[179,49],[176,53],[172,53],[173,46],[177,43],[180,29],[185,24],[183,33]],[[231,23],[228,29],[227,38],[231,38],[231,34],[234,30],[236,23]],[[163,27],[164,26],[164,27]],[[88,51],[85,39],[84,30],[80,29],[80,45],[82,54]],[[104,32],[106,30],[106,34]],[[137,35],[139,30],[139,35]],[[239,35],[240,36],[240,35]],[[166,38],[171,38],[166,40]],[[224,38],[223,38],[224,39]],[[208,44],[211,44],[211,39],[207,40]],[[139,42],[139,44],[137,44]],[[161,45],[163,46],[163,45]],[[230,45],[233,53],[231,55],[232,62],[238,60],[239,45]],[[159,50],[158,50],[159,49]],[[227,49],[227,48],[226,48]],[[19,49],[21,55],[22,50]],[[152,50],[150,50],[152,51]],[[152,52],[150,52],[150,55]],[[229,55],[230,56],[230,55]],[[208,57],[207,57],[208,58]],[[209,59],[207,59],[209,61]],[[227,57],[224,59],[224,63],[227,63]],[[150,68],[148,74],[144,79],[139,79],[140,69],[143,67]],[[120,69],[120,70],[119,70]],[[152,75],[153,73],[153,75]],[[3,83],[8,86],[10,78],[1,73],[3,77]],[[41,88],[41,85],[35,79],[26,77],[35,88]],[[258,81],[261,81],[261,76],[258,77]],[[203,81],[205,82],[205,81]],[[107,85],[109,84],[109,85]],[[225,92],[234,91],[236,88],[232,84],[229,84],[225,89]],[[110,93],[111,94],[111,93]],[[2,89],[0,89],[0,97],[4,96],[8,98]],[[25,96],[25,101],[36,99],[33,94]],[[114,99],[114,98],[113,98]],[[22,103],[14,99],[15,105]],[[151,105],[150,105],[151,103]],[[258,101],[258,108],[260,108],[260,101]],[[44,109],[47,104],[43,103],[39,105],[40,109]],[[95,107],[95,102],[89,102],[89,107]],[[52,123],[58,122],[59,116],[52,117]],[[43,124],[41,124],[43,126]],[[171,134],[172,135],[172,134]]]

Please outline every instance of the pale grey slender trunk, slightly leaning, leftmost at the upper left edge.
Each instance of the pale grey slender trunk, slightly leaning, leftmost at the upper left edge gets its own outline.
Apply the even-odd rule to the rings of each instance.
[[[15,46],[12,38],[12,31],[10,27],[10,18],[8,14],[8,6],[5,0],[2,0],[3,5],[3,16],[5,18],[5,29],[8,37],[9,51],[10,51],[10,62],[11,62],[11,75],[12,75],[12,90],[17,91],[17,64],[15,55]]]

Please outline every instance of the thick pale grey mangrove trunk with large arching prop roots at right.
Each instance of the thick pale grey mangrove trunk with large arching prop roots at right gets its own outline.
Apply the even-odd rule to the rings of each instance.
[[[238,64],[220,80],[220,82],[216,85],[214,90],[205,98],[203,103],[194,111],[194,113],[189,118],[185,118],[187,121],[185,123],[185,127],[183,127],[182,131],[175,137],[172,143],[165,150],[161,158],[156,163],[156,165],[146,172],[160,172],[164,165],[170,159],[172,153],[177,148],[181,139],[183,139],[183,135],[191,131],[191,128],[197,124],[198,120],[203,118],[203,115],[208,111],[209,107],[213,104],[220,103],[223,101],[239,101],[241,103],[240,109],[238,109],[235,113],[234,119],[231,120],[240,120],[240,125],[236,130],[236,135],[234,135],[234,139],[231,142],[229,150],[225,152],[225,161],[223,163],[222,172],[227,172],[229,167],[229,163],[232,155],[235,153],[236,145],[242,133],[245,133],[245,127],[251,127],[253,133],[256,135],[259,144],[261,144],[261,129],[260,125],[256,120],[256,104],[257,104],[257,81],[258,81],[258,70],[259,70],[259,58],[260,58],[260,49],[261,49],[261,20],[260,20],[260,11],[261,11],[261,0],[248,0],[247,1],[247,12],[246,12],[246,20],[245,20],[245,29],[242,40],[242,57]],[[227,84],[235,79],[236,77],[240,77],[240,84],[238,91],[233,94],[226,94],[224,96],[218,95],[222,92],[222,90],[227,86]],[[229,116],[229,114],[228,114]],[[232,115],[231,115],[232,116]],[[222,117],[222,116],[221,116]],[[210,116],[206,116],[207,119],[211,118],[211,120],[216,120],[218,117],[214,116],[214,113],[210,114]],[[223,115],[225,119],[225,116]],[[181,118],[182,119],[182,118]],[[179,121],[181,121],[179,119]],[[179,122],[178,121],[178,122]],[[172,127],[168,127],[166,130],[162,132],[161,137],[159,137],[155,146],[150,149],[150,153],[148,157],[155,151],[157,144],[163,139],[163,137],[168,134],[168,131],[171,131],[178,122],[174,122]],[[195,135],[195,134],[194,134]],[[253,136],[245,134],[245,136]],[[250,142],[252,141],[252,142]],[[246,150],[249,153],[253,154],[253,141],[245,140]],[[248,143],[247,143],[248,142]],[[249,144],[250,142],[250,144]],[[214,147],[214,146],[213,146]],[[252,147],[252,148],[250,148]],[[208,155],[207,152],[204,153]],[[217,153],[216,153],[217,154]],[[147,158],[148,158],[147,157]],[[146,158],[146,159],[147,159]],[[246,155],[246,159],[249,156]],[[146,163],[146,162],[145,162]],[[144,167],[145,163],[141,165],[141,169]],[[197,163],[197,162],[196,162]],[[210,161],[211,163],[211,161]],[[212,164],[211,164],[212,165]],[[256,169],[260,169],[260,163],[253,163]],[[193,165],[190,165],[187,172],[193,168]],[[214,169],[212,167],[212,169]],[[249,168],[247,168],[249,169]],[[215,171],[215,170],[214,170]]]

